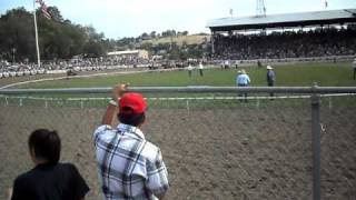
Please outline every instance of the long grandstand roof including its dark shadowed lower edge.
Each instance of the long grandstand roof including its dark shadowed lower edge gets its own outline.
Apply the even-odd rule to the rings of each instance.
[[[270,14],[263,17],[220,18],[209,20],[211,31],[253,30],[283,27],[343,24],[356,22],[356,9]]]

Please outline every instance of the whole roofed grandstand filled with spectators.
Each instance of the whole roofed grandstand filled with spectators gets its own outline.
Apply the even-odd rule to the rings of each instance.
[[[216,59],[354,56],[356,9],[210,20]],[[258,33],[256,33],[256,31]]]

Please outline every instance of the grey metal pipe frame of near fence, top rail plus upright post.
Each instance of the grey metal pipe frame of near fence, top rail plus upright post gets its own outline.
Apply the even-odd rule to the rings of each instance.
[[[320,200],[320,140],[323,126],[320,123],[320,98],[334,96],[355,96],[356,87],[131,87],[128,91],[141,93],[298,93],[296,98],[309,98],[312,108],[312,149],[313,149],[313,199]],[[0,96],[4,98],[23,99],[30,94],[108,94],[111,88],[66,88],[66,89],[1,89]],[[17,97],[14,97],[17,96]],[[19,97],[24,96],[24,97]],[[31,98],[31,97],[29,97]],[[155,97],[154,97],[155,98]],[[164,98],[166,100],[190,99],[219,99],[219,97],[184,97]],[[231,99],[245,99],[244,97],[224,97]],[[248,97],[246,99],[283,99],[285,97]],[[293,97],[286,97],[293,98]],[[36,98],[34,98],[36,99]],[[38,98],[39,99],[39,98]],[[102,98],[98,98],[102,99]],[[50,100],[44,98],[44,100]],[[86,98],[68,98],[68,100],[86,100]]]

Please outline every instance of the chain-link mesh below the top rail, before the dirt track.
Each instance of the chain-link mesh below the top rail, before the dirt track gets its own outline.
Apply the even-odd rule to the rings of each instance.
[[[240,88],[140,90],[149,106],[142,130],[161,148],[169,172],[167,199],[356,197],[356,96],[276,88],[283,93],[269,98],[260,93],[265,89],[244,88],[259,92],[245,101]],[[100,199],[92,132],[108,99],[100,92],[85,98],[62,92],[2,92],[0,199],[18,174],[31,169],[27,140],[38,128],[59,131],[61,161],[79,168],[91,188],[88,199]]]

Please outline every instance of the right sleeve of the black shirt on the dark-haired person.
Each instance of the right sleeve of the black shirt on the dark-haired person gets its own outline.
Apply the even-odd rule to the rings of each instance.
[[[82,199],[89,192],[89,187],[85,179],[80,176],[78,169],[76,166],[71,166],[71,171],[72,171],[72,187],[73,187],[73,193],[75,193],[75,199]]]

